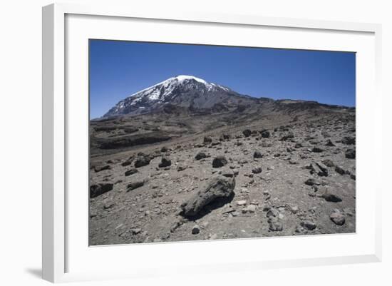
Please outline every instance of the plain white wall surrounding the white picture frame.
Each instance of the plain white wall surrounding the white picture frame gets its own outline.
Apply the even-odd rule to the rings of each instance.
[[[41,280],[41,6],[46,0],[1,1],[0,15],[0,284],[46,285]],[[92,0],[68,0],[81,4]],[[136,281],[133,285],[391,285],[392,17],[388,0],[143,0],[99,1],[170,9],[259,14],[383,24],[383,262],[239,272],[230,275]],[[141,2],[141,3],[140,3]],[[369,94],[369,96],[371,96]],[[389,149],[389,150],[388,150]],[[369,190],[370,191],[370,190]],[[321,246],[322,247],[322,246]],[[130,259],[132,259],[130,257]],[[207,259],[207,257],[206,257]],[[130,281],[83,285],[129,285]],[[82,285],[82,283],[77,283]]]

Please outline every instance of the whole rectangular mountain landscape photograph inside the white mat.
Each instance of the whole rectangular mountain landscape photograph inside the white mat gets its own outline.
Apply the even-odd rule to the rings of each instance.
[[[89,244],[356,232],[356,54],[89,40]]]

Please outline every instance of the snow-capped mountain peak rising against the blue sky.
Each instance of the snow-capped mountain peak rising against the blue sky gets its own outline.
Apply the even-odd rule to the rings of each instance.
[[[175,76],[128,96],[103,117],[148,113],[168,105],[193,111],[225,109],[253,99],[195,76]]]

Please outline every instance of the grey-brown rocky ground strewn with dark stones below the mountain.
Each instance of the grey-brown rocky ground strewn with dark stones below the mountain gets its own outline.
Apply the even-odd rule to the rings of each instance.
[[[92,122],[90,244],[355,233],[355,110],[233,118]]]

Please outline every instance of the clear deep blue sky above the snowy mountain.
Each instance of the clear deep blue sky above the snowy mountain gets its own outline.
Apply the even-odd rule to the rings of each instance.
[[[355,106],[355,53],[90,40],[91,118],[181,74],[254,97]]]

